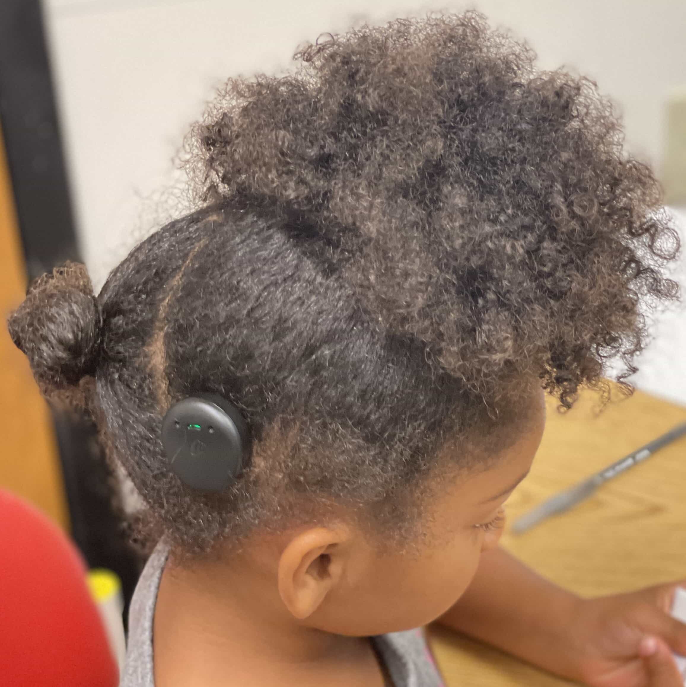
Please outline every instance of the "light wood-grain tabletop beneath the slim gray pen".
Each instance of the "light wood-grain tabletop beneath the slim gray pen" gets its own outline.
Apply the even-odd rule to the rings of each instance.
[[[614,391],[614,390],[613,390]],[[597,414],[585,392],[566,414],[549,399],[546,430],[527,480],[509,499],[509,521],[686,421],[686,408],[636,392]],[[686,437],[630,469],[573,510],[502,545],[583,596],[686,578]],[[449,687],[551,687],[566,680],[444,629],[430,631]]]

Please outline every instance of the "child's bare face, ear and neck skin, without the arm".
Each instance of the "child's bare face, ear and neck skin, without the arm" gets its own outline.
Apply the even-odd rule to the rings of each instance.
[[[436,499],[420,554],[379,554],[342,519],[256,535],[230,559],[168,564],[155,610],[155,684],[390,684],[368,638],[427,624],[463,594],[482,552],[498,542],[498,522],[484,526],[538,448],[544,405],[535,402],[531,431],[497,466],[455,480]]]

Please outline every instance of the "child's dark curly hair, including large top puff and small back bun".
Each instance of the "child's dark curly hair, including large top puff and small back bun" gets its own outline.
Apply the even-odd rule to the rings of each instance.
[[[294,74],[230,79],[192,129],[193,214],[97,297],[72,265],[10,317],[45,392],[85,394],[185,552],[331,501],[399,531],[449,438],[486,460],[524,421],[522,379],[571,407],[619,358],[630,392],[646,315],[678,297],[661,189],[592,81],[536,71],[476,12],[327,34],[294,58]],[[229,398],[254,434],[219,495],[162,452],[166,409],[194,392]]]

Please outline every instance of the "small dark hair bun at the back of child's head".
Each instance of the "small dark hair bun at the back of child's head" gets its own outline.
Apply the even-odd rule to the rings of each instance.
[[[43,390],[76,386],[93,375],[102,315],[85,266],[67,262],[38,278],[8,318],[8,329]]]

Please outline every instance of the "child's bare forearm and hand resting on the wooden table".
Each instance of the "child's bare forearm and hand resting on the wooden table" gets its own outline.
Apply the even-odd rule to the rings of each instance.
[[[496,548],[439,622],[591,687],[683,687],[670,655],[686,656],[686,625],[669,615],[677,586],[582,599]]]

